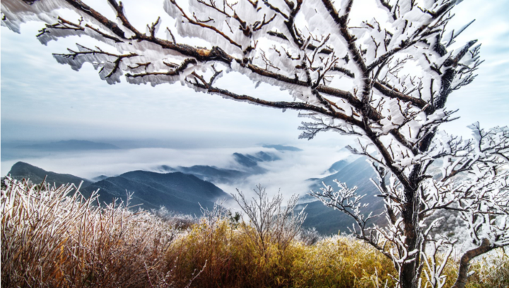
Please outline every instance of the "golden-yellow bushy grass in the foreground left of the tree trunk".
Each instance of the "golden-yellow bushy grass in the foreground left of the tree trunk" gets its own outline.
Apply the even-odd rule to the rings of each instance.
[[[266,253],[226,219],[215,226],[203,221],[181,235],[168,250],[168,263],[177,263],[178,277],[206,268],[193,287],[378,287],[394,282],[394,269],[385,256],[361,241],[329,237],[315,245],[293,241],[283,252],[276,239]],[[282,253],[283,252],[283,253]],[[182,283],[184,284],[184,283]]]

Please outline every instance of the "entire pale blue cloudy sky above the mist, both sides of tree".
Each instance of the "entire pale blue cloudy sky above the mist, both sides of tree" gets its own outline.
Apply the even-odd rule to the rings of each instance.
[[[85,2],[112,18],[105,1]],[[157,16],[165,16],[162,1],[123,2],[127,16],[139,27]],[[373,0],[359,2],[374,3]],[[464,0],[455,8],[456,17],[450,27],[459,28],[476,19],[457,42],[479,40],[485,62],[477,71],[479,76],[474,83],[454,92],[447,102],[449,109],[459,109],[457,116],[460,116],[459,120],[444,126],[450,133],[468,136],[466,126],[474,121],[480,121],[484,127],[509,124],[507,11],[509,0]],[[137,18],[135,13],[148,17]],[[42,27],[42,23],[26,23],[21,26],[21,34],[1,27],[2,145],[12,140],[145,139],[172,149],[236,149],[275,143],[338,150],[353,140],[337,133],[322,133],[310,141],[298,140],[298,126],[303,119],[298,118],[297,112],[228,101],[194,92],[180,84],[151,87],[122,81],[108,85],[89,64],[76,72],[52,57],[52,53],[75,47],[76,42],[86,44],[90,40],[68,37],[45,46],[35,37]],[[291,99],[277,87],[262,84],[254,89],[249,81],[233,79],[225,84],[240,92]],[[2,161],[2,174],[6,170],[4,166],[10,164]]]

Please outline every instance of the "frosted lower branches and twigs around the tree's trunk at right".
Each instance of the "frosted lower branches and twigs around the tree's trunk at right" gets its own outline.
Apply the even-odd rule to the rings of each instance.
[[[373,183],[385,201],[385,227],[368,224],[373,216],[361,212],[365,204],[361,203],[363,196],[356,194],[356,187],[349,188],[337,182],[339,190],[325,185],[320,192],[312,191],[311,195],[351,216],[356,221],[353,234],[392,258],[400,274],[402,264],[420,260],[419,269],[423,270],[431,287],[443,287],[445,263],[455,244],[465,241],[449,239],[433,230],[441,227],[444,217],[440,215],[457,217],[470,236],[463,243],[469,250],[462,256],[455,286],[464,287],[460,284],[467,279],[469,260],[509,245],[509,128],[485,130],[479,124],[470,127],[474,138],[463,140],[438,133],[428,152],[414,160],[414,164],[424,169],[419,193],[412,199],[408,198],[401,181],[387,172],[387,165],[377,160],[379,153],[370,153],[363,145],[361,151],[356,150],[370,157],[378,172],[378,181]],[[414,221],[420,236],[414,250],[410,250],[406,242],[405,208],[408,203],[415,207]]]

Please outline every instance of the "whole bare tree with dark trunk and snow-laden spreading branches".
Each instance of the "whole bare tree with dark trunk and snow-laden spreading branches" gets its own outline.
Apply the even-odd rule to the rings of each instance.
[[[165,0],[175,25],[160,30],[158,18],[144,32],[122,3],[107,1],[116,21],[79,0],[2,1],[2,25],[16,31],[40,19],[47,23],[37,35],[42,43],[68,35],[103,42],[109,49],[78,45],[54,57],[76,70],[89,62],[108,83],[122,75],[129,83],[180,81],[232,100],[296,109],[310,119],[302,138],[320,131],[358,136],[353,152],[368,157],[379,174],[375,185],[389,225],[370,226],[373,215],[361,215],[355,188],[326,187],[315,196],[356,220],[356,235],[393,260],[400,287],[421,286],[423,270],[433,287],[443,283],[442,266],[428,258],[454,240],[431,237],[440,220],[425,220],[435,211],[460,213],[476,244],[462,257],[456,287],[464,287],[470,259],[508,244],[507,128],[474,128],[471,141],[438,130],[453,120],[447,98],[471,83],[481,64],[475,40],[455,44],[472,22],[447,29],[461,0],[375,0],[374,7],[353,0]],[[79,18],[59,17],[62,7]],[[185,44],[188,36],[209,44]],[[288,90],[293,100],[221,88],[217,80],[228,71]],[[440,164],[442,173],[435,173]]]

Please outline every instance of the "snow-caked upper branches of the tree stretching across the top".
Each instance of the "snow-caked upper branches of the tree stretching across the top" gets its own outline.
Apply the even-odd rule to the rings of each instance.
[[[424,136],[421,130],[441,119],[444,112],[434,116],[435,110],[443,108],[448,93],[470,83],[481,63],[473,42],[447,52],[464,30],[445,30],[455,1],[380,1],[378,16],[349,19],[361,4],[165,0],[162,13],[174,23],[152,19],[143,29],[129,22],[124,13],[129,7],[108,2],[116,20],[76,0],[6,1],[1,4],[2,24],[18,31],[25,21],[43,20],[47,25],[37,35],[42,43],[69,35],[103,42],[109,49],[78,45],[77,52],[71,48],[55,58],[74,69],[91,63],[108,83],[119,82],[121,76],[129,83],[152,85],[180,81],[223,97],[312,112],[317,121],[305,126],[310,132],[303,136],[308,138],[329,129],[362,133],[352,124],[369,116],[377,135],[399,131],[415,145]],[[62,7],[75,11],[77,18],[59,17]],[[209,45],[192,47],[182,36],[199,37]],[[214,85],[222,71],[278,85],[294,102],[262,101],[223,90]]]

